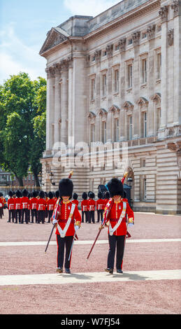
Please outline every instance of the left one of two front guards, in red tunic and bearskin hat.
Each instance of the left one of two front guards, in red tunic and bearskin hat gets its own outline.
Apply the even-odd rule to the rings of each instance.
[[[70,201],[73,193],[73,183],[71,179],[61,179],[59,181],[59,205],[57,219],[53,219],[52,224],[57,226],[55,234],[57,235],[57,272],[70,274],[71,270],[71,247],[75,237],[76,230],[80,228],[81,216],[78,206]],[[64,262],[64,250],[65,262]]]

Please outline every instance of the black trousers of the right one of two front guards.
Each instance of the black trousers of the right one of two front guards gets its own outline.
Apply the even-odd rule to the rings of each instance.
[[[124,244],[126,235],[108,235],[109,252],[108,252],[108,268],[114,268],[115,249],[116,251],[116,269],[122,269],[122,260],[124,255]]]

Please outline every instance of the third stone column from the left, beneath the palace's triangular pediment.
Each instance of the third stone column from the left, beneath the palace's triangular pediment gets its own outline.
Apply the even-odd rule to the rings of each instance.
[[[61,136],[60,141],[68,144],[68,62],[61,61]]]

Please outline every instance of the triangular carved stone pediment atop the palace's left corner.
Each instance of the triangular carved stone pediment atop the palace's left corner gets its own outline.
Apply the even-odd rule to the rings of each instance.
[[[59,43],[62,43],[67,39],[68,34],[66,33],[66,31],[62,30],[59,27],[52,27],[52,29],[50,29],[47,34],[45,42],[43,43],[40,55],[43,54],[43,52],[45,52],[46,50],[55,47],[55,45],[59,45]]]

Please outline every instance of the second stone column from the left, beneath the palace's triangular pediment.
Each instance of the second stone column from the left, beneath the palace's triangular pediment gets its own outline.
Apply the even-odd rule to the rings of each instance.
[[[54,143],[60,141],[60,118],[61,118],[61,104],[60,104],[60,74],[61,74],[61,66],[59,63],[54,65],[55,68],[55,118],[54,118]]]

